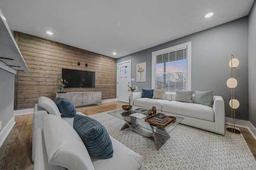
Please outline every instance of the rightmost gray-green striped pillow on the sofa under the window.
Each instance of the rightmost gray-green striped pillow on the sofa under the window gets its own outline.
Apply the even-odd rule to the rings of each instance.
[[[205,106],[212,106],[213,90],[207,92],[196,91],[194,103],[203,104]]]

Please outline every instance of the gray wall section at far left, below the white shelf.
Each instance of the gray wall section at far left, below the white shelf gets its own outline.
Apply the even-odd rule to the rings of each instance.
[[[14,74],[0,69],[0,121],[2,121],[2,129],[13,117],[14,76]]]

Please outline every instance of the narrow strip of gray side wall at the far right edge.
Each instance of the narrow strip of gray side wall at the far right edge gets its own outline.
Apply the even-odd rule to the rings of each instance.
[[[248,19],[249,121],[256,127],[256,2]]]

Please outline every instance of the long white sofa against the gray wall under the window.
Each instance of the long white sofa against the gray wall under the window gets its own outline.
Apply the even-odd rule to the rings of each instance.
[[[151,109],[155,106],[159,113],[184,117],[181,124],[189,125],[206,131],[224,135],[225,133],[225,108],[221,96],[213,96],[213,106],[205,106],[194,103],[175,101],[176,94],[165,94],[165,100],[154,98],[142,98],[142,92],[134,92],[130,95],[132,106]]]

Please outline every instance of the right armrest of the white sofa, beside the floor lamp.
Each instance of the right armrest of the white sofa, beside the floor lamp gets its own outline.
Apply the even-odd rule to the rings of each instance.
[[[225,106],[221,96],[214,96],[213,101],[215,133],[225,134]]]

